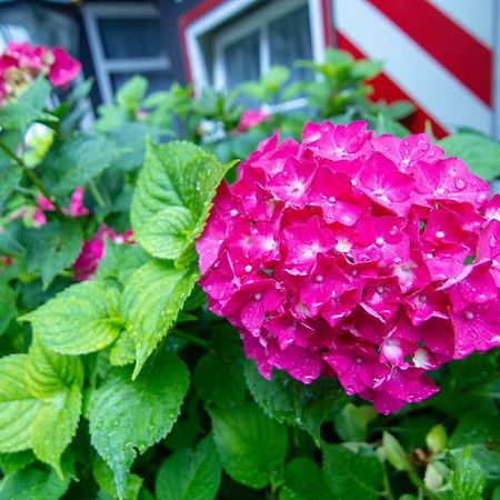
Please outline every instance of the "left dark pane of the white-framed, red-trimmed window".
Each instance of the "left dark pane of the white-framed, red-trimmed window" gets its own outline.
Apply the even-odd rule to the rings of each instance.
[[[259,33],[252,33],[224,49],[226,84],[228,89],[260,76]]]

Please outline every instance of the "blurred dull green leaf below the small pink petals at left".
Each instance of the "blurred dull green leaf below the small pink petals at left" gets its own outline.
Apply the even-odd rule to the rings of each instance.
[[[83,233],[74,219],[53,221],[34,229],[28,240],[28,271],[40,274],[43,289],[70,267],[80,253]]]

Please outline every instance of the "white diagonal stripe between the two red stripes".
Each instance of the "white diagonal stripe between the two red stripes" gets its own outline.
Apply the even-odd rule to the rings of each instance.
[[[364,0],[336,0],[337,28],[370,59],[383,61],[387,76],[442,126],[490,133],[490,109]]]

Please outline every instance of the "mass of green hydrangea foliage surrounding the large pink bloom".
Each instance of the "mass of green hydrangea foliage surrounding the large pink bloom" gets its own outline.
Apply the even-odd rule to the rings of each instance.
[[[263,379],[208,311],[194,241],[237,159],[308,120],[407,133],[411,104],[368,98],[378,62],[328,50],[299,66],[304,80],[273,67],[196,97],[134,77],[86,131],[90,81],[48,109],[40,78],[0,109],[0,500],[500,499],[498,350],[381,417],[334,379]],[[246,131],[243,102],[269,113]],[[440,143],[499,176],[493,140]]]

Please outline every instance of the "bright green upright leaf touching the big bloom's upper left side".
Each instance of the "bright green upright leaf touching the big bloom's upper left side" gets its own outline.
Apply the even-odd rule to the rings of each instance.
[[[178,259],[201,233],[223,166],[189,142],[148,143],[132,199],[139,243],[160,259]]]

